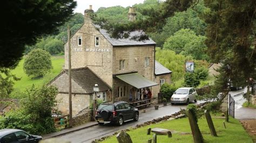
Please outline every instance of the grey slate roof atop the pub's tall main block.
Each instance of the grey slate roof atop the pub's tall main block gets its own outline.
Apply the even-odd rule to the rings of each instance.
[[[106,30],[100,28],[100,26],[95,25],[95,27],[99,29],[99,32],[102,33],[102,35],[110,42],[112,46],[156,45],[156,42],[154,42],[151,38],[149,38],[149,40],[144,41],[137,41],[131,39],[131,37],[133,36],[144,34],[144,32],[142,31],[131,32],[130,37],[126,39],[114,39],[110,37],[110,34],[107,33]]]

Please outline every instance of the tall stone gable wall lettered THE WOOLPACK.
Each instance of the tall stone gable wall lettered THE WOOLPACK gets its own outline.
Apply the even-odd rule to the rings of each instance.
[[[71,67],[89,67],[96,75],[112,87],[112,45],[85,18],[82,27],[71,37]],[[77,37],[82,36],[82,46],[77,45]],[[95,37],[99,37],[99,46],[95,46]],[[65,44],[65,69],[68,69],[68,43]]]

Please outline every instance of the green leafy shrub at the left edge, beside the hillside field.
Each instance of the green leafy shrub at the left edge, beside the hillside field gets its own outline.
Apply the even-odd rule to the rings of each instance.
[[[11,74],[10,69],[0,68],[0,97],[9,97],[12,90],[14,90],[14,81],[18,81],[15,75]]]

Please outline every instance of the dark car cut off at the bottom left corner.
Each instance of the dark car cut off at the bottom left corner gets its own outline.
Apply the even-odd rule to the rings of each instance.
[[[0,130],[0,142],[39,142],[43,138],[39,135],[31,135],[22,130],[17,129],[2,129]]]

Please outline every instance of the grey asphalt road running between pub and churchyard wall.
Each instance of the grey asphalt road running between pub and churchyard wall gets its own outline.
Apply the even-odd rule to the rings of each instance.
[[[197,103],[194,103],[194,104],[199,104],[199,103],[203,103],[203,101],[198,101]],[[105,124],[103,126],[97,125],[97,126],[85,128],[84,130],[79,130],[77,132],[72,132],[70,134],[60,136],[58,138],[71,141],[71,142],[91,142],[95,139],[100,139],[106,135],[111,135],[114,132],[123,130],[124,128],[130,128],[130,127],[136,126],[137,124],[142,124],[145,121],[150,121],[152,119],[156,119],[159,117],[172,115],[173,113],[180,111],[180,108],[185,109],[186,105],[184,104],[167,105],[159,108],[159,110],[154,110],[153,108],[150,108],[150,110],[147,109],[146,113],[142,113],[142,111],[140,111],[138,121],[129,121],[125,123],[123,126],[117,126],[117,125],[111,125],[111,124]]]

